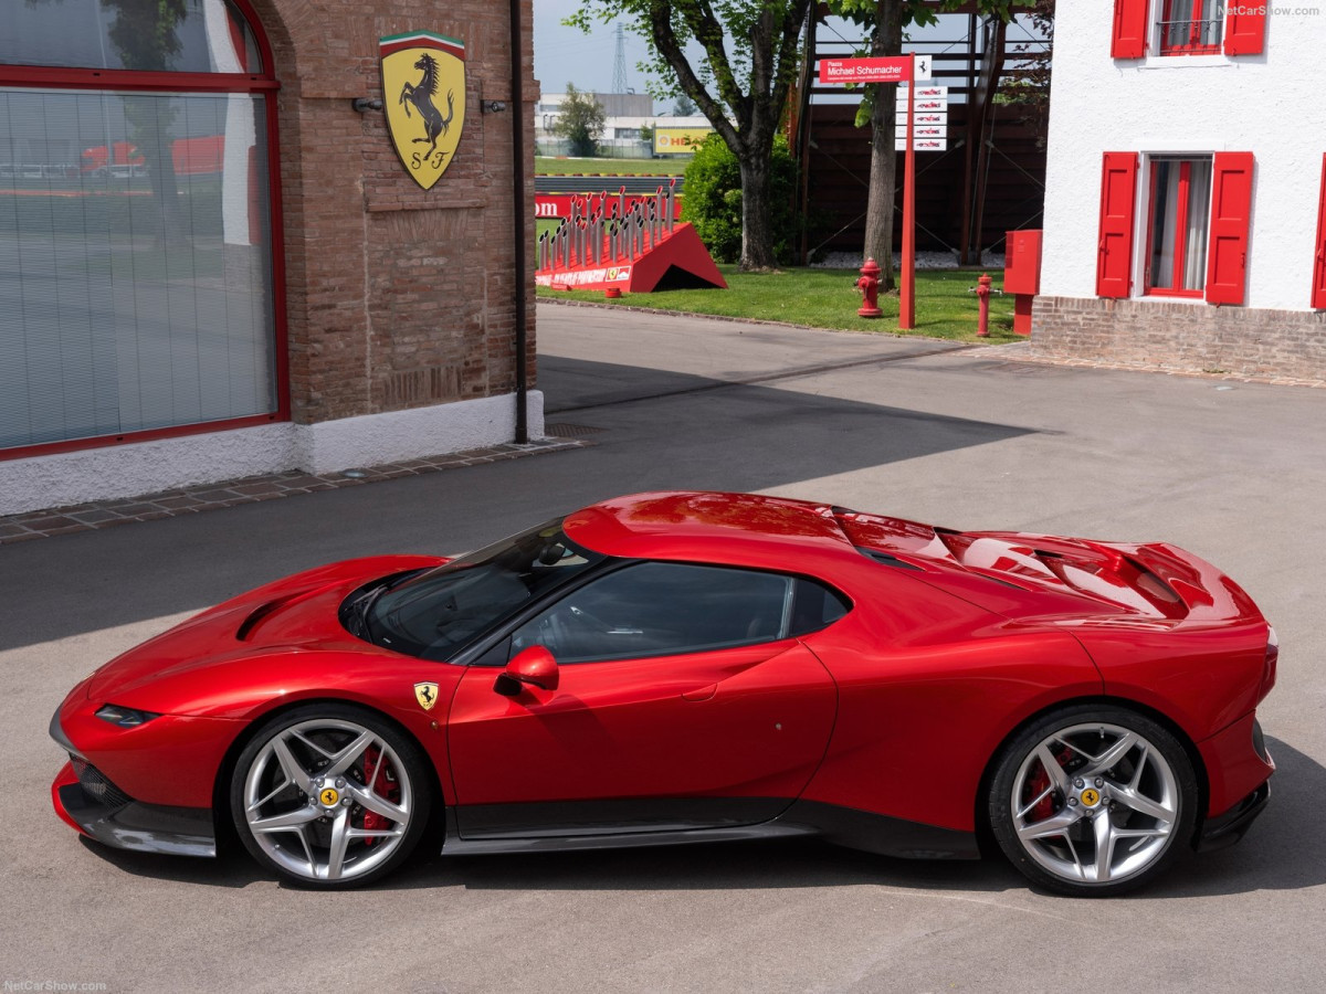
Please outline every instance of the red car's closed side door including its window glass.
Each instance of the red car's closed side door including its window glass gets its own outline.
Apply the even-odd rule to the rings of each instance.
[[[739,826],[782,811],[818,766],[834,683],[796,637],[808,580],[688,563],[629,565],[522,624],[556,689],[460,681],[448,751],[464,838]]]

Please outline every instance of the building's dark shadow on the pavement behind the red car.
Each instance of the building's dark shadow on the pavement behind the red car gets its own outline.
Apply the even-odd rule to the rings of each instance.
[[[550,391],[570,372],[613,382],[626,370],[556,362],[560,374],[545,370]],[[686,392],[568,415],[605,429],[587,436],[591,448],[5,546],[0,604],[12,620],[0,624],[0,652],[202,610],[335,559],[455,554],[622,493],[758,490],[1030,433],[815,392],[668,376]]]

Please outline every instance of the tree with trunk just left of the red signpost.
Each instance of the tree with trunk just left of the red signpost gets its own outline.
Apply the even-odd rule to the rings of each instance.
[[[977,0],[983,13],[1008,20],[1013,7],[1026,7],[1033,0]],[[961,0],[943,0],[943,7],[957,7]],[[870,54],[900,56],[903,28],[924,27],[937,20],[936,9],[924,0],[829,0],[829,11],[846,17],[867,30]],[[894,148],[896,111],[892,83],[865,87],[857,126],[870,122],[870,193],[866,197],[865,254],[879,262],[880,289],[894,285],[894,191],[898,188],[898,152]]]

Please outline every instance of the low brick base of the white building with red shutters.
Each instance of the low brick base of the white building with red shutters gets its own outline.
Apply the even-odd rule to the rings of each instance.
[[[1048,358],[1323,379],[1326,313],[1037,297],[1029,347]]]

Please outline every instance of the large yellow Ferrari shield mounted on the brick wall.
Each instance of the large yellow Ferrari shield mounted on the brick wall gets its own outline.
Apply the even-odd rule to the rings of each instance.
[[[465,45],[416,30],[379,38],[378,53],[391,144],[415,183],[431,190],[465,125]]]

